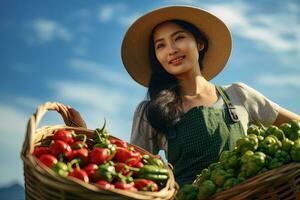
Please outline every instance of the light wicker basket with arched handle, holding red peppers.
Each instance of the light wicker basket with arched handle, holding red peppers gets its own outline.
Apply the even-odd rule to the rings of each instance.
[[[48,110],[55,110],[61,114],[65,125],[44,126],[37,129],[37,126]],[[93,130],[80,127],[72,127],[70,113],[62,104],[47,102],[37,109],[36,113],[28,121],[27,133],[23,143],[21,158],[24,163],[25,195],[26,199],[174,199],[178,190],[178,185],[174,180],[171,168],[166,165],[169,171],[169,180],[166,186],[158,192],[129,192],[120,189],[103,190],[94,184],[84,183],[71,177],[61,177],[51,169],[40,167],[37,159],[31,155],[37,144],[42,138],[53,134],[54,130],[67,129],[74,130],[76,133],[92,134]],[[112,137],[112,136],[110,136]],[[137,151],[149,154],[144,149],[133,146]]]

